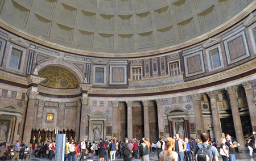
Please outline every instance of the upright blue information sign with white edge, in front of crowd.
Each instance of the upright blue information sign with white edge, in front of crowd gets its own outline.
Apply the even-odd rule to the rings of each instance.
[[[55,160],[56,161],[64,160],[65,138],[66,138],[66,134],[57,134],[56,152],[55,152]]]

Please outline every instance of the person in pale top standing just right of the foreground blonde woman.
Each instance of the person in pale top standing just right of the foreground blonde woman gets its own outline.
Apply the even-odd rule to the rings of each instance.
[[[178,133],[175,134],[175,137],[176,139],[174,142],[174,151],[176,151],[179,156],[178,160],[183,161],[183,156],[184,156],[183,152],[186,150],[187,145],[185,144],[183,139],[180,138]]]

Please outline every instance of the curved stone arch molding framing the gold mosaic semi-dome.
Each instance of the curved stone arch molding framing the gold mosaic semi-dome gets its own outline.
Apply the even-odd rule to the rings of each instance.
[[[72,65],[72,63],[64,62],[64,61],[46,61],[40,63],[38,66],[36,66],[34,70],[34,74],[38,75],[38,71],[49,66],[59,66],[63,67],[69,71],[71,71],[75,77],[77,78],[77,81],[79,84],[82,84],[84,82],[84,74],[81,73],[79,69],[75,65]]]

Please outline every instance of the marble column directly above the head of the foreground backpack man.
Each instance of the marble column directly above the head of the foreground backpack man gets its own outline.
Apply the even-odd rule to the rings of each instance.
[[[195,124],[196,124],[196,134],[197,138],[200,138],[200,134],[205,132],[204,130],[204,120],[203,113],[201,108],[201,94],[191,95],[193,100],[193,109],[195,115]]]

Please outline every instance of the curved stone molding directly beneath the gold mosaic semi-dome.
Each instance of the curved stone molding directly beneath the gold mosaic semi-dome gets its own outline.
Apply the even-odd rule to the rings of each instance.
[[[50,95],[61,95],[61,96],[65,96],[65,95],[77,95],[77,94],[81,94],[82,92],[82,88],[81,87],[77,87],[74,89],[56,89],[56,88],[48,88],[48,87],[43,87],[40,84],[38,85],[38,91],[42,92],[44,94],[50,94]]]

